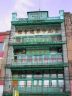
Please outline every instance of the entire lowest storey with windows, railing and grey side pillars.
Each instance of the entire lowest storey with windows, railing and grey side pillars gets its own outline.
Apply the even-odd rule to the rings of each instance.
[[[47,70],[7,69],[4,96],[70,96],[68,68]],[[12,95],[11,95],[12,92]]]

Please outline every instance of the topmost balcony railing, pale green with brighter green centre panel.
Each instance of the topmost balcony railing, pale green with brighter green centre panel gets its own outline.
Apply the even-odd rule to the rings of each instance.
[[[10,39],[10,43],[13,44],[63,44],[61,35],[58,36],[49,36],[49,35],[40,35],[40,36],[19,36]]]

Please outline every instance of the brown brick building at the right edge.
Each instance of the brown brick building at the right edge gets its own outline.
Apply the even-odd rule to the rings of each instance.
[[[67,37],[70,91],[72,96],[72,14],[69,12],[65,13],[65,30],[66,30],[66,37]]]

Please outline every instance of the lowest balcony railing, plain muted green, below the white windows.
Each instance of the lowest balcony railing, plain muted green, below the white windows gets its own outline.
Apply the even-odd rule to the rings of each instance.
[[[19,93],[62,93],[65,92],[63,87],[47,87],[47,86],[31,86],[31,87],[15,87],[15,90],[18,90]]]

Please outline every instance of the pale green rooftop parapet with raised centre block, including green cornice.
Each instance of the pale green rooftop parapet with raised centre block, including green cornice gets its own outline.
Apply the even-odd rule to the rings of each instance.
[[[64,11],[60,10],[57,17],[49,17],[48,11],[27,12],[27,16],[27,18],[17,18],[17,13],[12,13],[11,23],[13,25],[62,23],[64,20]]]

